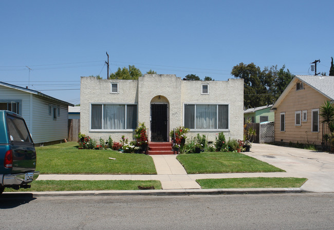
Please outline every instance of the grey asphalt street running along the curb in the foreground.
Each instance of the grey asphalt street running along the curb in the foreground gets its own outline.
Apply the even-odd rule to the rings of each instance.
[[[3,229],[333,229],[334,194],[6,195],[0,216]]]

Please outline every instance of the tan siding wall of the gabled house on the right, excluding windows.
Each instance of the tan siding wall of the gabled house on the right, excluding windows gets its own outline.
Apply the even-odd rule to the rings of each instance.
[[[292,87],[275,110],[275,142],[321,145],[321,118],[319,117],[319,132],[312,132],[312,109],[319,109],[327,100],[328,98],[307,84],[304,84],[304,89],[301,90]],[[307,121],[296,126],[295,111],[303,110],[307,110]],[[285,131],[280,131],[281,112],[285,112]]]

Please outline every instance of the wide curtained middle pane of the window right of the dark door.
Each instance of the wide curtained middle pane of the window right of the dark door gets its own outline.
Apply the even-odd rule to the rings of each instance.
[[[196,129],[217,128],[217,105],[196,105]]]

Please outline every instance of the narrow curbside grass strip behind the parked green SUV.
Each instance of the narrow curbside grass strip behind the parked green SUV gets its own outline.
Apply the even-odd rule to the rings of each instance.
[[[31,182],[31,188],[5,191],[87,191],[87,190],[139,190],[138,186],[161,189],[160,181],[131,181],[131,180],[37,180]]]

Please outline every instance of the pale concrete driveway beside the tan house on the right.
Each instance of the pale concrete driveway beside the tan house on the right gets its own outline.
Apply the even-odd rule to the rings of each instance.
[[[306,191],[334,193],[334,154],[267,144],[253,144],[244,154],[307,178],[301,187]]]

